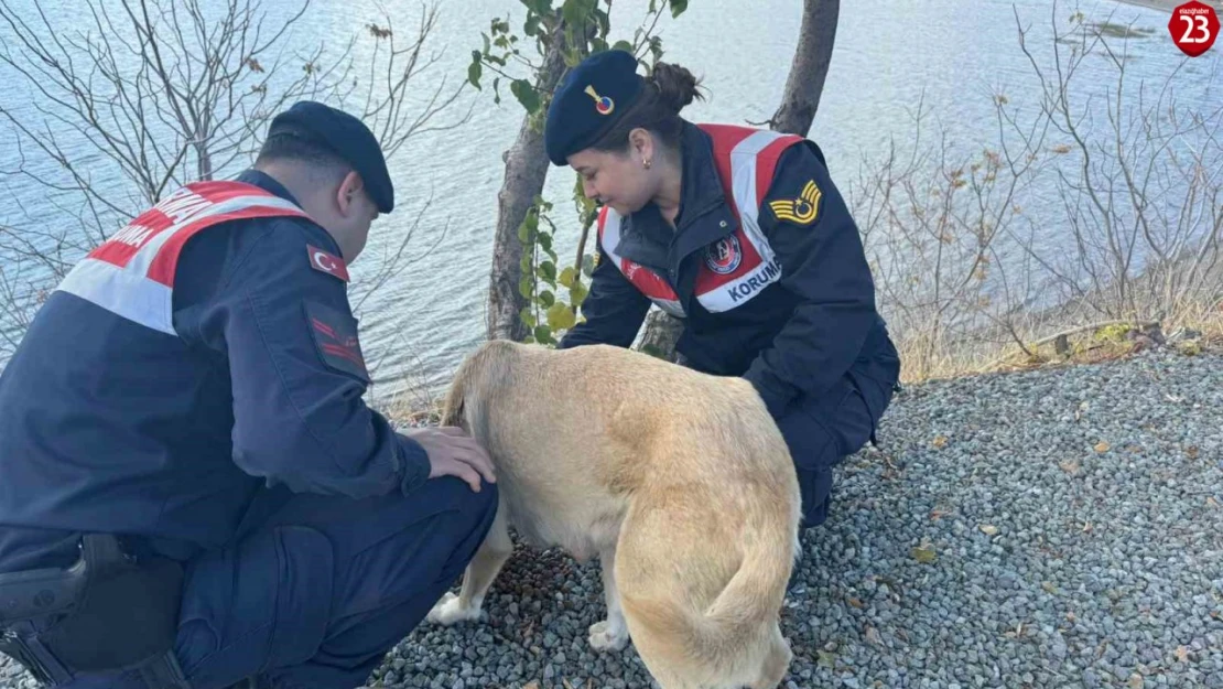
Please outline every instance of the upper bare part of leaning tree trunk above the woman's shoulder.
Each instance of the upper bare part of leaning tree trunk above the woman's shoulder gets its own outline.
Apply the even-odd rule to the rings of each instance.
[[[774,131],[807,136],[833,60],[840,0],[804,0],[799,47],[785,81],[781,106],[769,122]]]

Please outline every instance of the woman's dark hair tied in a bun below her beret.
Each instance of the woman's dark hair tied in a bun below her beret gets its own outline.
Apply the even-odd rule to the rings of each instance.
[[[629,147],[629,132],[641,127],[662,138],[667,148],[676,151],[684,126],[680,110],[693,98],[704,99],[697,93],[698,86],[700,81],[686,69],[658,62],[654,73],[646,77],[646,87],[637,102],[591,147],[624,151]]]

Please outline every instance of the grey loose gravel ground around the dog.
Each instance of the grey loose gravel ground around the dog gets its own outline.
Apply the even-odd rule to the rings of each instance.
[[[1223,689],[1223,354],[915,385],[879,441],[804,538],[785,687]],[[597,563],[520,549],[369,684],[651,687],[603,612]]]

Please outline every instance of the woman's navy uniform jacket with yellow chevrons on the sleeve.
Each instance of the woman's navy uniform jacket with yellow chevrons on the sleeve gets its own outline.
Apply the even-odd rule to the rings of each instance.
[[[781,264],[781,279],[736,308],[711,313],[695,299],[697,269],[706,247],[729,235],[737,222],[718,179],[709,136],[685,122],[681,146],[684,181],[675,229],[657,206],[647,204],[624,218],[618,251],[668,278],[686,313],[676,344],[686,365],[747,378],[774,419],[851,373],[878,421],[899,376],[899,359],[876,311],[857,226],[818,147],[810,141],[789,147],[761,203],[759,225]],[[822,191],[816,220],[779,220],[769,203],[800,197],[811,181]],[[649,306],[612,261],[600,259],[582,304],[585,322],[560,346],[629,346]]]

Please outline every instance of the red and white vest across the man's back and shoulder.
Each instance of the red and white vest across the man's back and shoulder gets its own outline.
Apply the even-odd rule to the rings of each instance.
[[[175,335],[174,275],[187,240],[218,223],[275,215],[307,217],[290,201],[254,185],[188,184],[98,245],[55,289]]]

